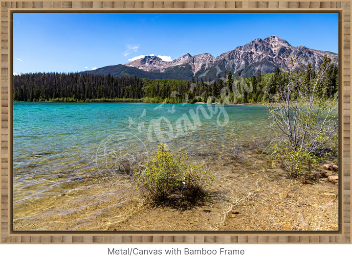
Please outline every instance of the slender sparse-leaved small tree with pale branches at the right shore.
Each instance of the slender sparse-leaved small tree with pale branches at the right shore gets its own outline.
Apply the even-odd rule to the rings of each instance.
[[[328,155],[337,136],[338,92],[329,92],[333,67],[325,57],[316,69],[308,64],[305,70],[288,71],[274,95],[264,89],[272,102],[264,103],[270,126],[284,136],[275,155],[290,177],[311,172],[311,164]]]

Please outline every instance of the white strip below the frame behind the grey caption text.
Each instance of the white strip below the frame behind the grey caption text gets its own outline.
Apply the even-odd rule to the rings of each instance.
[[[220,248],[243,249],[244,255],[219,255]],[[161,249],[163,255],[108,255],[108,248]],[[215,249],[218,255],[165,255],[170,248]],[[351,257],[351,244],[0,244],[1,261],[26,262],[306,262]]]

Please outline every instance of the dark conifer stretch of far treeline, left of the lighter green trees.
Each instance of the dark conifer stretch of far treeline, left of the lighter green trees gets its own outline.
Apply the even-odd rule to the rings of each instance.
[[[86,101],[141,98],[143,79],[79,73],[28,73],[14,76],[14,101]]]

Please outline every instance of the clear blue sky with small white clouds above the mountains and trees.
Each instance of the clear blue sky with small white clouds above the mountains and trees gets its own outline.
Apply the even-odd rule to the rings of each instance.
[[[292,46],[338,52],[337,14],[14,14],[14,73],[76,72],[213,56],[276,35]]]

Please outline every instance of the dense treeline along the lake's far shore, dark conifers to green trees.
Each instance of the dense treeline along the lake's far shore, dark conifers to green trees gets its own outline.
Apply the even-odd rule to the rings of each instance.
[[[330,59],[325,57],[324,63]],[[338,69],[330,65],[326,75],[328,96],[338,90]],[[308,72],[314,73],[308,64]],[[311,76],[306,75],[304,81]],[[148,103],[209,102],[261,103],[287,84],[287,73],[257,74],[242,78],[221,72],[217,79],[192,81],[141,79],[132,76],[95,75],[88,73],[26,73],[15,75],[14,101],[124,101]],[[267,92],[264,92],[264,88]],[[266,95],[264,95],[264,93]]]

